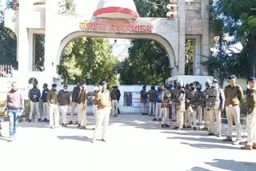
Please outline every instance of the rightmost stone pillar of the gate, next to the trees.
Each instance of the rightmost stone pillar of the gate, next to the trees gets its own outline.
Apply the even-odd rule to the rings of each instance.
[[[206,6],[209,5],[209,0],[202,1],[202,56],[201,62],[206,62],[207,57],[210,56],[210,34],[209,34],[209,14],[206,11]],[[202,75],[208,75],[208,71],[205,66],[202,66]]]

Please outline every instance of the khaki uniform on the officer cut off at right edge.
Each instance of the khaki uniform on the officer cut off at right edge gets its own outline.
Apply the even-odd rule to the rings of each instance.
[[[256,89],[248,91],[246,107],[248,110],[246,117],[247,145],[252,146],[256,144]]]

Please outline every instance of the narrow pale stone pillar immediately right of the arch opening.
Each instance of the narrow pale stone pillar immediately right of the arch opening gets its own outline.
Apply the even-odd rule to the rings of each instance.
[[[185,47],[186,47],[186,1],[178,1],[179,19],[179,50],[178,50],[178,75],[185,74]]]

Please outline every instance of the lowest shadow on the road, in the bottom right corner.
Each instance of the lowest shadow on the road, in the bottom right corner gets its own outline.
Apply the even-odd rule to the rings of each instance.
[[[234,161],[234,160],[224,160],[224,159],[214,159],[213,162],[205,162],[206,165],[211,165],[216,169],[225,169],[232,171],[254,171],[256,168],[256,163],[246,162],[246,161]],[[194,167],[190,170],[193,171],[208,171],[209,169],[203,169],[199,167]]]

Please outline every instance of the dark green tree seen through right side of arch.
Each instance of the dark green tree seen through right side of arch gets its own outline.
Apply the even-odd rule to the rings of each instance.
[[[158,85],[170,77],[169,59],[166,50],[152,40],[133,40],[127,58],[119,68],[122,84]]]

